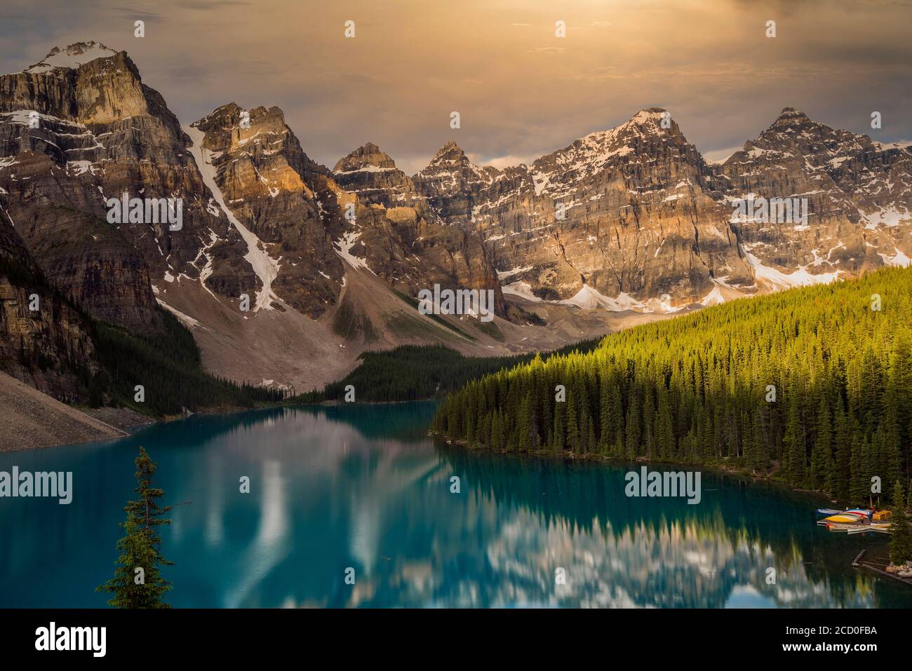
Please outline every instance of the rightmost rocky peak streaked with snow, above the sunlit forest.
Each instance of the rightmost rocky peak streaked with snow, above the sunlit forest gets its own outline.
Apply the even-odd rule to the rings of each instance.
[[[721,169],[730,200],[806,200],[806,218],[731,224],[759,282],[783,288],[908,263],[908,149],[834,130],[785,108]]]

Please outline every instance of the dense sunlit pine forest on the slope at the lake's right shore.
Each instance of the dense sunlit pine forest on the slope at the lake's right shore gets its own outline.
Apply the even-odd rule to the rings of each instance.
[[[912,268],[535,357],[451,394],[432,430],[495,450],[724,463],[856,503],[876,477],[886,501],[909,477]]]

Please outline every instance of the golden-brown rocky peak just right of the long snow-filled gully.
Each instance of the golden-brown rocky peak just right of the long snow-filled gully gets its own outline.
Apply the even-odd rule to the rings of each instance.
[[[248,112],[231,103],[192,129],[200,133],[219,200],[261,241],[269,269],[239,276],[238,268],[225,267],[208,283],[229,295],[254,289],[265,301],[265,277],[265,294],[305,315],[323,315],[336,303],[344,274],[332,243],[344,226],[329,171],[301,150],[279,108]]]

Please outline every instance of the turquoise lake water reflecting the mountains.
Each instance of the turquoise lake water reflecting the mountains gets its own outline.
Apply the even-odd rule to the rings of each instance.
[[[912,606],[851,568],[886,538],[825,532],[818,499],[709,472],[698,505],[630,499],[625,464],[435,444],[433,411],[272,408],[0,454],[74,480],[69,505],[0,499],[0,606],[105,605],[140,445],[165,502],[191,501],[162,528],[173,606]]]

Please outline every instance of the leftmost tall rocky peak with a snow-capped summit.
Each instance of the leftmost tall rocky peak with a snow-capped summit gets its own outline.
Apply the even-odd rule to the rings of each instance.
[[[80,43],[0,77],[0,196],[48,281],[98,318],[154,324],[152,283],[198,278],[212,235],[232,240],[187,143],[122,51]],[[109,223],[123,193],[182,199],[181,229]]]

